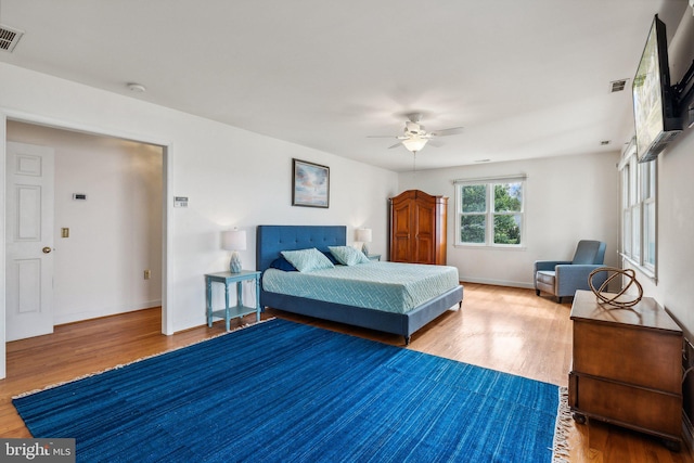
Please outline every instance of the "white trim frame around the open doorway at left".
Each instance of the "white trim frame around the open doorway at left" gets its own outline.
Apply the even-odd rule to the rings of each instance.
[[[174,320],[171,314],[169,313],[168,300],[170,300],[170,288],[168,285],[168,275],[171,271],[171,259],[169,256],[171,255],[171,233],[169,233],[171,227],[171,217],[174,207],[172,202],[168,201],[169,197],[172,197],[171,192],[171,179],[172,179],[172,157],[174,157],[174,149],[172,143],[170,141],[160,140],[152,136],[141,134],[141,133],[131,133],[125,131],[117,130],[106,130],[101,127],[89,126],[85,124],[76,124],[68,123],[61,119],[49,118],[44,116],[39,116],[37,114],[23,113],[13,110],[7,110],[0,107],[0,166],[2,172],[0,175],[0,218],[2,218],[2,223],[0,226],[0,320],[2,320],[2,327],[0,329],[0,380],[7,376],[7,334],[5,334],[5,185],[7,185],[7,169],[4,165],[7,163],[7,142],[8,142],[8,119],[16,120],[21,123],[35,124],[39,126],[52,127],[55,129],[62,130],[70,130],[77,132],[83,132],[89,134],[102,136],[102,137],[113,137],[123,140],[129,140],[140,143],[153,144],[157,146],[162,146],[163,149],[163,171],[162,171],[162,183],[163,183],[163,197],[162,202],[162,215],[163,215],[163,223],[162,223],[162,334],[172,335],[174,334]]]

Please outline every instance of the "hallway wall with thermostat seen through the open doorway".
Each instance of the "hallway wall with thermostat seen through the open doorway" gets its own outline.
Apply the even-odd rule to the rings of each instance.
[[[159,306],[162,147],[16,121],[8,140],[55,150],[55,324]]]

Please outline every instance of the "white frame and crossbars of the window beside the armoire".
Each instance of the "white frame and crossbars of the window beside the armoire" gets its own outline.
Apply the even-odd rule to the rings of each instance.
[[[479,179],[459,179],[453,180],[455,188],[455,246],[464,247],[489,247],[489,248],[506,248],[506,249],[520,249],[525,245],[525,229],[526,229],[526,175],[509,176],[509,177],[489,177]],[[493,210],[494,206],[494,185],[502,183],[520,183],[520,210],[513,213],[497,213]],[[487,189],[487,210],[484,213],[473,213],[485,216],[485,242],[484,243],[463,243],[461,241],[461,217],[465,214],[462,211],[462,188],[470,185],[486,185]],[[518,244],[497,244],[494,239],[494,216],[497,215],[510,215],[520,216],[520,243]]]

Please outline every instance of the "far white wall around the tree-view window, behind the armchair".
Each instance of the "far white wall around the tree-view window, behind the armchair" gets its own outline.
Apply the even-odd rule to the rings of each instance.
[[[607,243],[605,265],[617,266],[619,153],[492,163],[400,175],[400,189],[449,197],[448,265],[463,281],[532,287],[532,262],[570,260],[579,240]],[[454,246],[455,179],[527,175],[522,249]]]

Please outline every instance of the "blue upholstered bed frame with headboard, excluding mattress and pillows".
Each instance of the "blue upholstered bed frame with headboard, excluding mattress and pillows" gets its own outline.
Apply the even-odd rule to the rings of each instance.
[[[317,248],[329,253],[330,246],[346,246],[346,236],[347,227],[345,226],[258,226],[256,266],[257,270],[262,272],[260,306],[401,335],[406,345],[410,344],[414,332],[450,308],[457,305],[458,308],[461,307],[463,287],[458,282],[453,287],[444,290],[403,312],[318,300],[264,288],[262,279],[266,276],[266,271],[277,270],[273,268],[274,262],[282,252]]]

